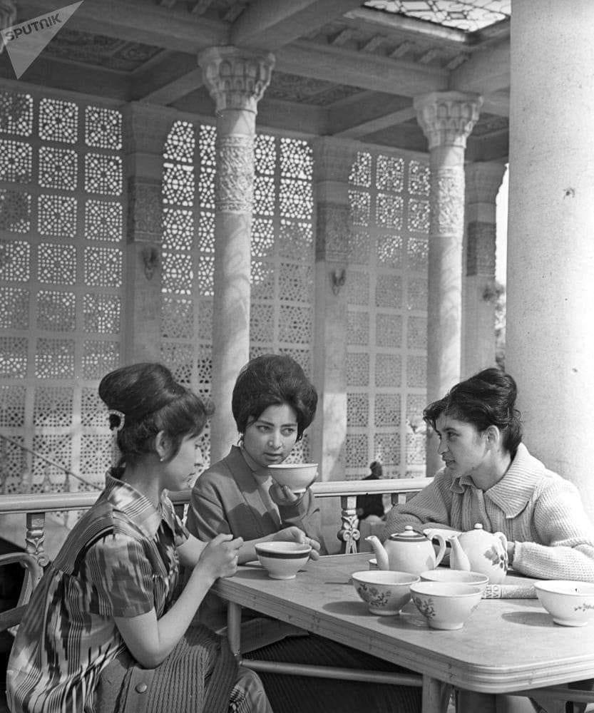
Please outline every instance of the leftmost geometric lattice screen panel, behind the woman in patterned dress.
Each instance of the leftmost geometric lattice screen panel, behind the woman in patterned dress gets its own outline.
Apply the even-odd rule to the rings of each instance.
[[[121,362],[122,116],[0,91],[0,493],[101,487]]]

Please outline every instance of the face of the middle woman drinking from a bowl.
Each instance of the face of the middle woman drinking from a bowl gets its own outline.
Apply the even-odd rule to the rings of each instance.
[[[297,442],[297,413],[289,404],[268,406],[250,420],[243,434],[243,447],[259,466],[282,463]]]

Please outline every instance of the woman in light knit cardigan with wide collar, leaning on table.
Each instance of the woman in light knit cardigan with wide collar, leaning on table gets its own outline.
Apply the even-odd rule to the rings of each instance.
[[[508,559],[528,577],[594,582],[594,528],[577,488],[523,445],[516,382],[485,369],[456,384],[423,416],[445,466],[408,503],[390,511],[384,537],[427,523],[508,539]]]

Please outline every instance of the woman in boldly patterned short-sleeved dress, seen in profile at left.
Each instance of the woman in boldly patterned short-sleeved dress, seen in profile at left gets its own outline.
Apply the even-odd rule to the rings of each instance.
[[[7,670],[12,713],[271,713],[226,640],[190,627],[242,545],[200,542],[167,494],[193,483],[210,409],[161,364],[116,369],[99,395],[113,467],[31,596]]]

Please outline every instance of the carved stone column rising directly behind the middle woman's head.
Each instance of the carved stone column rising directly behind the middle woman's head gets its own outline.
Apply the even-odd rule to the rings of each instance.
[[[250,355],[254,135],[257,103],[270,83],[274,56],[211,47],[198,63],[217,116],[211,381],[216,411],[210,426],[210,460],[215,462],[237,438],[231,394]]]

